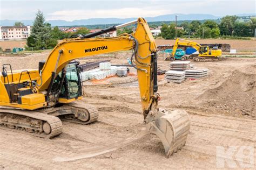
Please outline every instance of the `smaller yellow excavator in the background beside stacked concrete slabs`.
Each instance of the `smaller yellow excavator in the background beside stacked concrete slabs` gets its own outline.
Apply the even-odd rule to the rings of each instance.
[[[213,47],[210,49],[208,46],[201,46],[197,42],[193,42],[190,40],[185,40],[185,39],[179,39],[177,38],[175,41],[175,44],[172,49],[172,56],[174,58],[174,55],[177,51],[178,46],[190,46],[195,48],[198,51],[198,56],[194,56],[193,60],[200,62],[200,61],[214,61],[214,60],[219,60],[221,56],[221,49],[218,49],[218,47]]]

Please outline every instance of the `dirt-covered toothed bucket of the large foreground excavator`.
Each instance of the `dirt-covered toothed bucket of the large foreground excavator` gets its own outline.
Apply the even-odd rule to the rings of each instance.
[[[146,122],[150,133],[156,134],[163,143],[167,158],[185,146],[190,130],[190,118],[186,111],[150,111]]]

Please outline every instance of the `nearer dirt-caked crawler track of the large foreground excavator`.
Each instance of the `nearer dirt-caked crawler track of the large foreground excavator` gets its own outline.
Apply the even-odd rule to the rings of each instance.
[[[62,133],[58,117],[37,111],[0,107],[0,128],[18,131],[41,138],[52,138]]]

